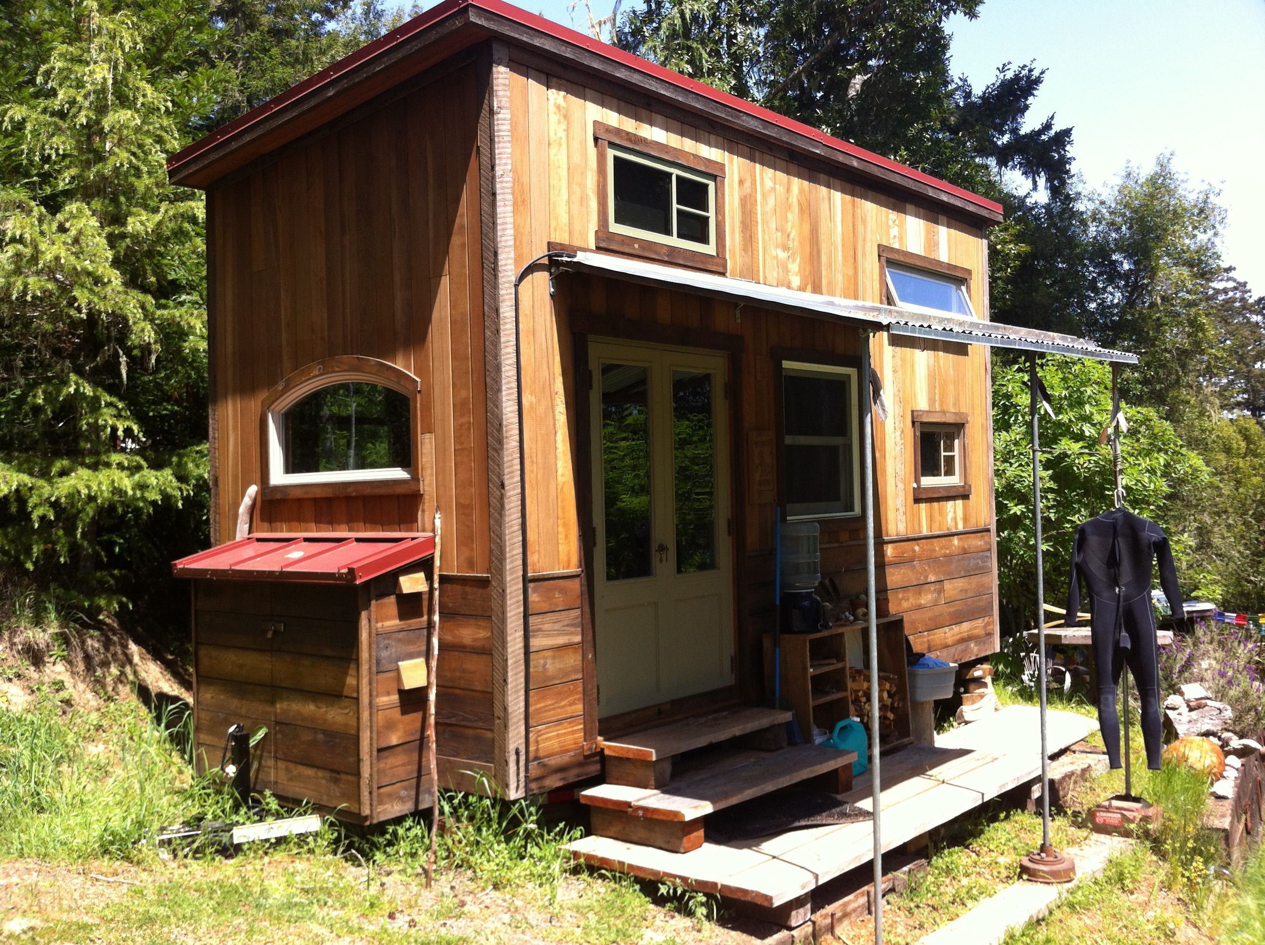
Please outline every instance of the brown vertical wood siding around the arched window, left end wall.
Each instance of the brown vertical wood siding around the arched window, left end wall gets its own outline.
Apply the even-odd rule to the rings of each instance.
[[[261,531],[429,528],[448,571],[488,571],[476,67],[459,67],[209,194],[218,433],[213,516],[229,536],[262,482],[263,395],[338,354],[421,380],[434,474],[417,495],[261,498]]]

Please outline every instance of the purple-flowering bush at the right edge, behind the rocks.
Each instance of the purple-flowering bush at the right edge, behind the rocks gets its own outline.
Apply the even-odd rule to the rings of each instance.
[[[1255,738],[1265,726],[1265,646],[1256,630],[1233,624],[1198,621],[1160,650],[1163,696],[1182,683],[1202,683],[1214,700],[1235,713],[1233,730]]]

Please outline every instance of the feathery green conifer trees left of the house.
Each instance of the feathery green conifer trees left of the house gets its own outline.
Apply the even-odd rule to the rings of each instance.
[[[202,196],[167,183],[166,157],[390,23],[369,0],[8,5],[6,578],[95,616],[205,544]]]

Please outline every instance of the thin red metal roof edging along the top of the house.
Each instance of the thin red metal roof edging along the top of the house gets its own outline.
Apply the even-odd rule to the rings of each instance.
[[[302,82],[291,86],[286,91],[269,99],[258,108],[252,109],[250,111],[234,119],[233,121],[229,121],[223,128],[211,132],[205,138],[201,138],[190,144],[188,147],[186,147],[185,149],[177,152],[176,154],[172,154],[171,157],[167,158],[167,171],[168,172],[176,171],[185,162],[192,159],[194,157],[201,154],[202,152],[215,145],[219,145],[221,142],[233,138],[235,134],[239,134],[240,132],[249,128],[252,124],[259,121],[261,119],[266,118],[267,115],[271,115],[272,113],[288,105],[290,102],[316,94],[323,86],[328,85],[339,76],[354,70],[362,63],[366,63],[373,57],[386,52],[391,47],[404,42],[405,39],[409,39],[410,37],[420,33],[421,30],[433,27],[440,20],[467,8],[486,10],[488,13],[505,16],[506,19],[519,24],[520,27],[526,27],[529,29],[539,30],[540,33],[545,33],[550,37],[567,42],[572,46],[587,49],[610,61],[619,62],[624,66],[629,66],[640,72],[654,76],[659,80],[670,82],[678,86],[679,89],[696,92],[707,99],[711,99],[712,101],[737,109],[739,111],[744,111],[748,115],[778,125],[779,128],[783,128],[786,130],[802,134],[806,138],[811,138],[812,140],[818,142],[820,144],[824,144],[827,148],[837,151],[842,154],[846,154],[853,159],[859,159],[865,163],[873,164],[875,167],[884,168],[885,171],[893,172],[910,181],[917,181],[923,186],[929,186],[944,194],[953,195],[960,200],[965,200],[970,204],[974,204],[975,206],[990,214],[998,216],[1002,214],[1002,205],[998,204],[997,201],[989,200],[988,197],[982,197],[978,194],[973,194],[972,191],[965,190],[963,187],[958,187],[953,183],[949,183],[947,181],[941,181],[939,177],[932,177],[929,173],[923,173],[922,171],[915,170],[897,161],[892,161],[891,158],[885,158],[882,154],[875,154],[872,151],[867,151],[865,148],[858,147],[856,144],[845,142],[841,138],[835,138],[832,135],[829,135],[822,130],[803,124],[802,121],[796,121],[794,119],[787,118],[786,115],[779,115],[775,111],[770,111],[769,109],[765,109],[760,105],[749,102],[745,99],[739,99],[736,95],[722,92],[719,89],[713,89],[710,85],[700,82],[694,78],[689,78],[688,76],[683,76],[679,72],[673,72],[672,70],[664,68],[663,66],[648,62],[646,59],[643,59],[639,56],[634,56],[632,53],[625,52],[624,49],[620,49],[615,46],[603,43],[598,39],[595,39],[591,35],[578,33],[574,29],[568,29],[567,27],[554,23],[553,20],[545,19],[544,16],[528,13],[526,10],[514,6],[512,4],[507,4],[503,0],[444,0],[444,3],[433,6],[430,10],[426,10],[425,13],[417,16],[414,16],[407,23],[397,27],[396,29],[379,37],[378,39],[374,39],[372,43],[361,47],[349,56],[345,56],[344,58],[335,62],[333,66],[324,68],[312,76],[309,76]]]

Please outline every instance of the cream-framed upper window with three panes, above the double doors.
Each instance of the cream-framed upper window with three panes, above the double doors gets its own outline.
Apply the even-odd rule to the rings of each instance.
[[[716,178],[611,144],[610,228],[667,245],[716,252]]]

